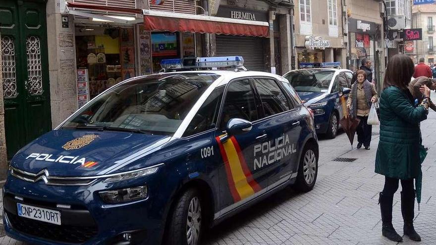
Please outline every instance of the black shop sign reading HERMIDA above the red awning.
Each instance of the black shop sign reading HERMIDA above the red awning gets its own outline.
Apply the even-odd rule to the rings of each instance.
[[[218,17],[241,19],[241,20],[255,20],[255,21],[268,21],[268,12],[251,11],[246,8],[235,8],[227,6],[219,6]]]

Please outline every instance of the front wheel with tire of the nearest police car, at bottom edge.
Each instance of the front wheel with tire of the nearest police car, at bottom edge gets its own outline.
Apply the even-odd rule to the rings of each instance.
[[[199,245],[202,235],[203,212],[199,192],[188,189],[176,201],[169,216],[167,245]]]

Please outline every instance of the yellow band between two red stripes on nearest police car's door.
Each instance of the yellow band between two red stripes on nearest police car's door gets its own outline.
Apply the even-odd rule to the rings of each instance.
[[[233,181],[241,199],[245,199],[254,194],[253,188],[248,184],[244,171],[242,170],[238,152],[235,149],[233,141],[228,140],[224,144],[224,150],[227,154],[228,164],[233,176]]]

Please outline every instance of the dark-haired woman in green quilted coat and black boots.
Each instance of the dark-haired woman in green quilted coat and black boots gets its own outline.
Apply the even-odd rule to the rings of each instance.
[[[380,142],[376,173],[385,176],[384,188],[379,197],[382,235],[395,242],[402,241],[392,226],[392,201],[399,181],[402,187],[404,235],[413,241],[421,241],[413,227],[416,197],[413,179],[418,177],[421,168],[419,123],[427,119],[430,89],[427,86],[420,89],[425,99],[415,106],[407,87],[413,72],[414,64],[409,56],[397,54],[390,58],[380,96]]]

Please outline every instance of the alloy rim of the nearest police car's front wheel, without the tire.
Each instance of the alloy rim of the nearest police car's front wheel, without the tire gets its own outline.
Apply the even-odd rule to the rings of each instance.
[[[201,230],[201,206],[197,196],[191,199],[186,223],[186,238],[188,245],[198,245]]]

